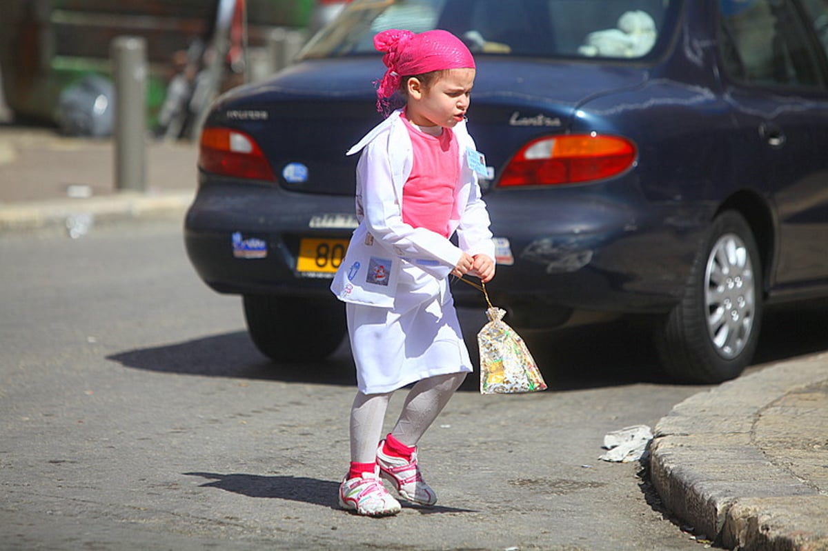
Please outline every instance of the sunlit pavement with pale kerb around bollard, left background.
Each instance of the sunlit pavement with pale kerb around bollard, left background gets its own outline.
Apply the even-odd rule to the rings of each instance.
[[[115,189],[111,140],[0,125],[0,232],[117,219],[184,217],[195,196],[195,144],[147,141],[145,191]]]

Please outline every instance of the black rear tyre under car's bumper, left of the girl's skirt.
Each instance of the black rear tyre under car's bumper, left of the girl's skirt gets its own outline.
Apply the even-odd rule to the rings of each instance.
[[[244,295],[243,302],[253,343],[274,362],[324,359],[344,338],[339,300]]]

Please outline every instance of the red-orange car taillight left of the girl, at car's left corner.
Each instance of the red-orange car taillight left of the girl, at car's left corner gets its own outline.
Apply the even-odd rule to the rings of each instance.
[[[256,141],[244,132],[229,128],[205,128],[201,131],[199,166],[219,175],[276,180]]]

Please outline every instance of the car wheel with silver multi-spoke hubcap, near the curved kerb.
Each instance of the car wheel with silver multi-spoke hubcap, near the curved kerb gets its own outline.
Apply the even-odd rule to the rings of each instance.
[[[748,223],[715,218],[691,268],[684,296],[657,331],[657,350],[678,381],[719,383],[753,358],[762,320],[762,271]]]

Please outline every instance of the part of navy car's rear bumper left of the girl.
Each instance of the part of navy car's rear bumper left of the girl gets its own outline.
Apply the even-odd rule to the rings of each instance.
[[[353,212],[353,197],[211,177],[187,211],[187,256],[219,293],[333,298],[330,274],[296,270],[298,245],[304,237],[349,239]]]

